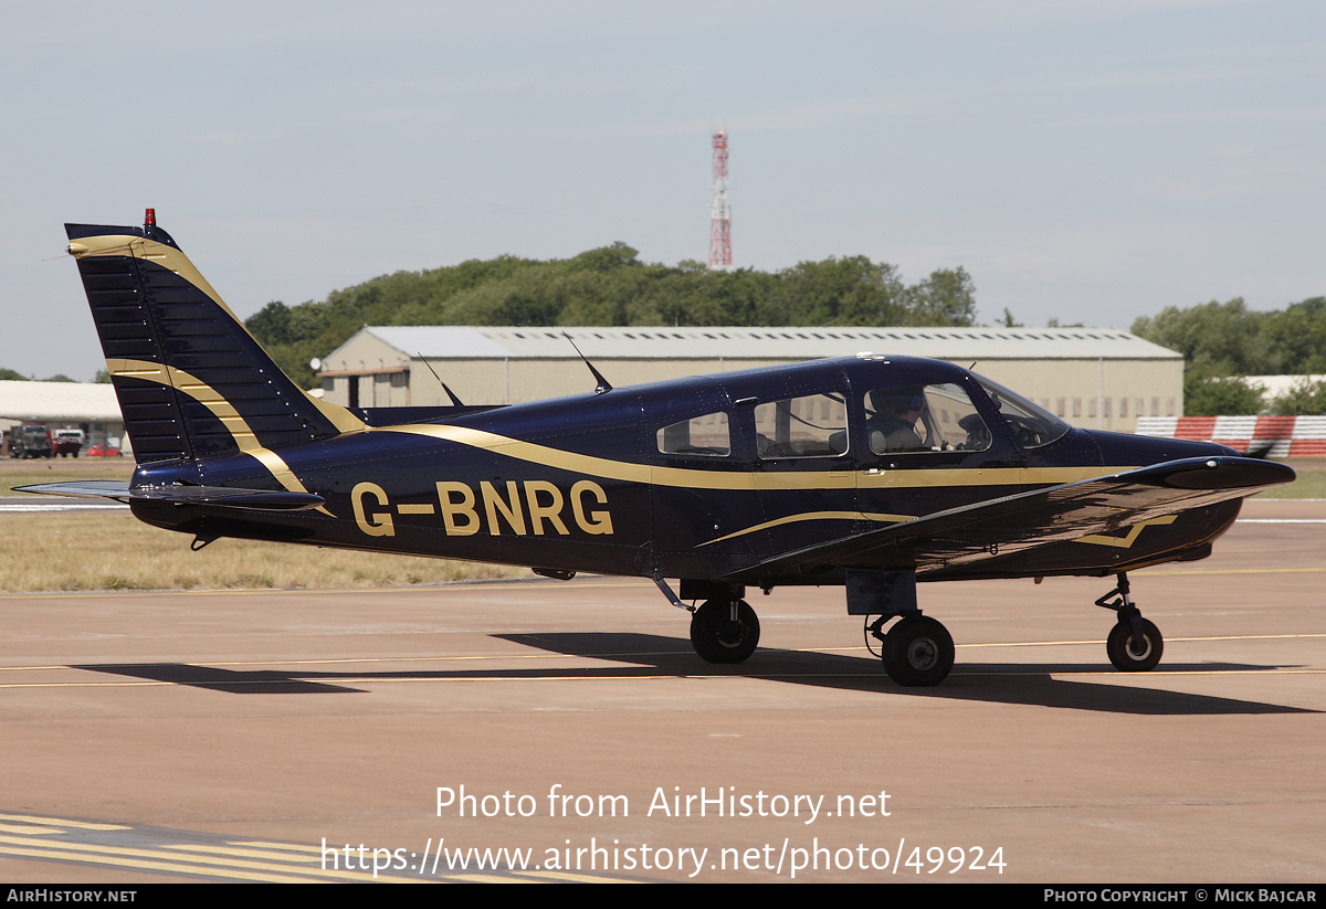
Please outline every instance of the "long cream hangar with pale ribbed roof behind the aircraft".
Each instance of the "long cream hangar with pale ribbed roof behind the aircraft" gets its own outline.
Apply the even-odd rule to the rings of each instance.
[[[618,387],[871,351],[967,366],[1074,425],[1183,416],[1183,356],[1114,329],[365,326],[318,375],[349,407],[447,404],[439,379],[465,404],[591,391],[564,333]]]

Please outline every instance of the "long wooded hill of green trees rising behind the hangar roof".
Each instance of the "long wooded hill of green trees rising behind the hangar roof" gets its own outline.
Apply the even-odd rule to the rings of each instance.
[[[385,274],[321,302],[273,301],[245,326],[290,378],[365,325],[969,326],[976,286],[961,268],[906,285],[898,266],[865,256],[781,272],[647,264],[623,242],[573,258],[499,256]]]

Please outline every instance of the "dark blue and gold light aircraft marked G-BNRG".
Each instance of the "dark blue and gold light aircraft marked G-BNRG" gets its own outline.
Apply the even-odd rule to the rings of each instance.
[[[888,676],[935,685],[953,640],[918,580],[1114,575],[1097,600],[1118,614],[1110,661],[1151,669],[1164,641],[1127,572],[1207,557],[1244,497],[1294,478],[1223,445],[1071,428],[960,366],[882,354],[347,409],[276,367],[151,209],[141,228],[65,227],[138,465],[127,484],[28,490],[126,501],[194,549],[240,537],[650,578],[711,663],[756,649],[748,587],[841,584]]]

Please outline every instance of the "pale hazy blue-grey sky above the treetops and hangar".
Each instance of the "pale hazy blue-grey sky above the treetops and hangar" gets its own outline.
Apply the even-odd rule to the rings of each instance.
[[[62,224],[158,223],[241,317],[623,241],[965,268],[1128,329],[1326,294],[1326,4],[0,0],[0,367],[103,367]]]

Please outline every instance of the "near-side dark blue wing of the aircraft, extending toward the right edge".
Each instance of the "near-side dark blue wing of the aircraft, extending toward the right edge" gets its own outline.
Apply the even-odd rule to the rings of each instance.
[[[785,553],[757,568],[915,564],[924,572],[1109,533],[1293,480],[1293,469],[1256,458],[1167,461],[936,511]]]

